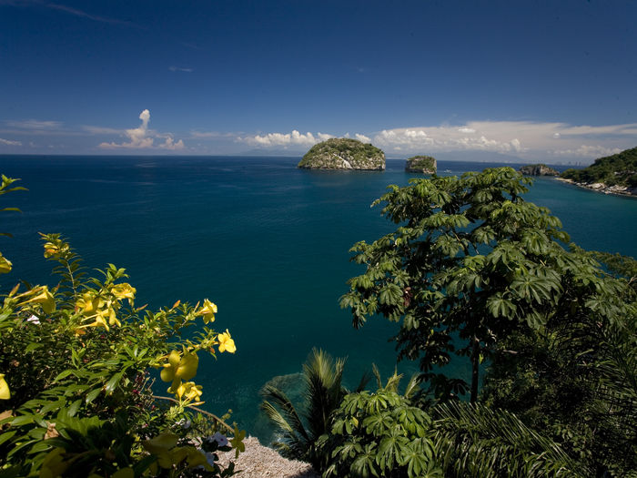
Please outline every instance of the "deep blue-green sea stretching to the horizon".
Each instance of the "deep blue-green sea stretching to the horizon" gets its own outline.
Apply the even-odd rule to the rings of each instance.
[[[137,304],[214,301],[214,325],[229,329],[238,351],[202,357],[196,380],[204,407],[231,408],[233,420],[268,440],[258,390],[275,376],[298,374],[312,347],[348,356],[352,386],[372,362],[385,376],[396,365],[388,342],[396,325],[370,320],[355,331],[339,297],[362,272],[349,262],[349,248],[391,230],[369,205],[389,184],[415,175],[402,160],[388,160],[384,172],[357,172],[298,169],[299,159],[0,157],[0,172],[29,189],[2,197],[2,207],[23,211],[2,217],[0,230],[14,237],[0,238],[0,251],[15,266],[2,291],[17,279],[54,281],[41,231],[70,239],[87,267],[125,267]],[[439,161],[438,168],[460,175],[492,166],[501,164]],[[537,178],[525,198],[550,208],[581,247],[637,257],[637,199],[552,178]],[[460,359],[453,366],[468,371]]]

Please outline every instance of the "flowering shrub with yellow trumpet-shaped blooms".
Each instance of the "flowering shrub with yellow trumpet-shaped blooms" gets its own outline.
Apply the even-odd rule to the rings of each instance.
[[[0,195],[13,182],[3,176]],[[87,277],[65,239],[42,237],[59,282],[18,284],[0,307],[0,477],[234,474],[216,453],[238,456],[245,432],[198,409],[194,381],[200,354],[236,351],[208,327],[217,306],[136,307],[124,269]],[[11,268],[0,255],[0,273]],[[152,368],[171,397],[154,394]]]

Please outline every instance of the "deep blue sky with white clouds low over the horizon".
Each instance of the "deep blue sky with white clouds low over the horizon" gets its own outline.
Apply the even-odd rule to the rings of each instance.
[[[632,0],[0,0],[0,154],[349,136],[587,163],[637,146],[636,19]]]

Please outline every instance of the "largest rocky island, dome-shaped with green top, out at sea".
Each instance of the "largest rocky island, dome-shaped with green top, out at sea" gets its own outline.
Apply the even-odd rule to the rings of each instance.
[[[385,153],[356,139],[333,137],[311,147],[298,168],[382,170]]]

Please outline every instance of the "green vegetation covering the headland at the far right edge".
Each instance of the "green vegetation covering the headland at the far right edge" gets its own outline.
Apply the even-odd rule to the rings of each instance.
[[[595,159],[588,168],[567,169],[562,178],[582,183],[603,183],[606,186],[637,187],[637,147],[616,155]]]

